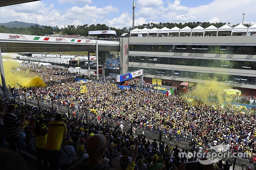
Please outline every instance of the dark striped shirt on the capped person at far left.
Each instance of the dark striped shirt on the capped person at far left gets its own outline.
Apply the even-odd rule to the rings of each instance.
[[[7,138],[14,138],[20,135],[21,120],[12,113],[4,114],[4,134]]]

